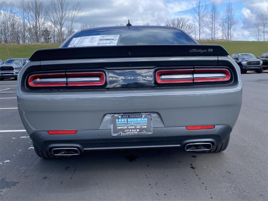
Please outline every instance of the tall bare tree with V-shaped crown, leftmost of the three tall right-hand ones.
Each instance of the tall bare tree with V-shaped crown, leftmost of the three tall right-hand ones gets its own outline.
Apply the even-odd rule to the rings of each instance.
[[[200,35],[203,33],[203,28],[206,25],[207,4],[201,3],[201,0],[196,0],[195,4],[193,5],[193,16],[198,24],[199,40],[200,40]]]

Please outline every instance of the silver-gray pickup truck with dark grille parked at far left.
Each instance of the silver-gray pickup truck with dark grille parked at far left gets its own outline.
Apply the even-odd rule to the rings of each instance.
[[[0,65],[0,80],[14,77],[17,79],[19,71],[28,62],[28,59],[7,59]]]

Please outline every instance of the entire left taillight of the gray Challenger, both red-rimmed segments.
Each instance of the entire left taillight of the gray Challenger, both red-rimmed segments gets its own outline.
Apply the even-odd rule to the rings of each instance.
[[[103,72],[33,74],[28,78],[30,87],[102,86],[104,84]]]

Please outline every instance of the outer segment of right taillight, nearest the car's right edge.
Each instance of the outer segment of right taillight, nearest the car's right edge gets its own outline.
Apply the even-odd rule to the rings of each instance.
[[[231,73],[228,69],[194,69],[195,82],[222,82],[229,81]]]

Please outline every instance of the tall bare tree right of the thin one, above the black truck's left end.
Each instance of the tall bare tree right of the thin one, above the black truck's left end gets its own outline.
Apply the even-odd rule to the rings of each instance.
[[[232,40],[232,36],[234,34],[234,25],[236,24],[236,20],[234,19],[234,10],[232,7],[232,3],[229,2],[225,9],[225,16],[224,16],[224,25],[225,27],[225,34],[227,40]]]

